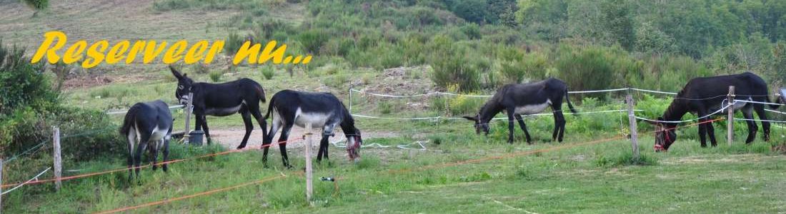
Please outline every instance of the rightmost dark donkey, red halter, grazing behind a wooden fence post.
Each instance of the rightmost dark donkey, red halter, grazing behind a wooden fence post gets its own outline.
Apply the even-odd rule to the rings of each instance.
[[[712,114],[722,107],[725,107],[725,105],[728,105],[726,95],[729,93],[730,85],[734,85],[734,93],[737,94],[736,100],[768,102],[767,83],[751,72],[717,77],[693,78],[685,85],[685,88],[678,92],[677,96],[674,97],[674,101],[672,101],[666,111],[663,112],[663,117],[659,117],[658,120],[678,121],[688,112],[696,113],[700,118],[707,114]],[[773,109],[777,107],[778,105],[770,106],[770,108]],[[751,110],[756,111],[758,118],[762,120],[767,119],[767,114],[764,112],[764,104],[762,103],[734,103],[734,110],[740,109],[742,109],[743,116],[747,119],[753,118]],[[702,118],[699,122],[707,122],[708,120],[709,118]],[[677,140],[677,133],[674,130],[677,123],[649,123],[656,126],[655,151],[668,151],[671,143]],[[751,143],[756,138],[758,127],[755,122],[747,121],[746,123],[747,140],[745,140],[745,143]],[[764,129],[764,141],[769,141],[769,122],[762,121],[762,128]],[[712,124],[702,123],[699,125],[701,147],[707,147],[706,134],[709,134],[712,146],[718,146]]]

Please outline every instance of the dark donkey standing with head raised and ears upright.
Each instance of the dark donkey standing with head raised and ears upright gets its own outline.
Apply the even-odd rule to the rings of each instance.
[[[189,92],[193,92],[193,114],[196,115],[196,130],[204,129],[204,136],[210,143],[210,132],[208,132],[208,120],[205,115],[229,116],[240,113],[245,123],[246,132],[243,141],[237,149],[242,149],[248,143],[248,136],[254,130],[251,116],[254,115],[259,127],[262,128],[263,139],[267,136],[267,122],[262,118],[259,111],[259,101],[265,102],[265,91],[262,85],[250,78],[241,78],[233,82],[211,84],[206,82],[194,82],[186,74],[172,66],[169,69],[178,78],[178,89],[174,96],[185,105],[188,103]],[[250,114],[250,115],[249,115]]]

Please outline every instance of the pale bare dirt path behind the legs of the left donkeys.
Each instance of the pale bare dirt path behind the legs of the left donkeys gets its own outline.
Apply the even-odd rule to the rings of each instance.
[[[292,131],[289,132],[289,140],[294,139],[302,139],[303,133],[305,133],[306,129],[300,127],[293,127]],[[321,130],[314,129],[314,133],[320,133]],[[241,140],[243,140],[243,135],[245,134],[244,127],[233,127],[228,129],[218,129],[218,130],[210,130],[210,136],[213,140],[218,141],[224,147],[233,149],[241,144]],[[278,137],[281,136],[281,131],[276,133],[274,140],[278,140]],[[314,146],[317,145],[321,136],[314,135],[316,138],[314,139]],[[363,140],[368,140],[372,138],[383,138],[383,137],[395,137],[399,136],[399,134],[395,132],[363,132]],[[336,131],[336,136],[330,138],[331,142],[335,142],[337,140],[345,140],[343,136],[343,132]],[[303,147],[304,142],[303,140],[296,140],[295,142],[287,143],[287,148],[301,148]],[[255,129],[251,132],[251,136],[248,137],[248,144],[246,147],[260,147],[262,146],[262,130]],[[273,146],[277,147],[277,146]]]

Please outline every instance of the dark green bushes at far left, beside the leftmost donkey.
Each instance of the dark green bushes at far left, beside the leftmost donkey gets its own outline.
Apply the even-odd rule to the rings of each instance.
[[[63,154],[69,159],[105,157],[125,148],[117,144],[122,138],[103,112],[61,107],[59,93],[42,73],[42,65],[29,61],[24,50],[9,49],[0,42],[0,147],[4,156],[50,140],[53,125],[61,129]]]

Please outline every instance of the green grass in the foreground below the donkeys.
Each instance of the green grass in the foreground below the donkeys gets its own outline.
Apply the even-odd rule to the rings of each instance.
[[[127,183],[126,172],[23,187],[4,195],[6,212],[98,212],[164,198],[196,194],[288,175],[259,185],[173,201],[134,212],[778,212],[786,201],[783,166],[786,158],[769,152],[769,144],[741,143],[701,148],[695,140],[678,141],[668,153],[653,153],[652,138],[641,139],[641,153],[652,165],[599,165],[601,158],[626,158],[630,143],[614,140],[556,151],[517,155],[499,160],[443,166],[443,163],[521,154],[565,143],[502,140],[481,143],[466,132],[443,133],[428,151],[364,149],[362,161],[351,164],[344,151],[331,148],[332,160],[316,165],[314,207],[305,201],[302,151],[291,149],[294,169],[281,169],[274,148],[270,169],[261,154],[247,151],[170,165],[171,172],[142,170],[139,183]],[[598,139],[603,139],[599,137]],[[457,139],[457,140],[456,140]],[[369,139],[366,143],[398,144],[407,138]],[[173,146],[174,158],[220,151],[218,147]],[[122,167],[123,160],[79,165],[87,171]],[[431,168],[433,167],[433,168]],[[70,169],[67,165],[66,168]],[[411,171],[410,171],[411,170]]]

